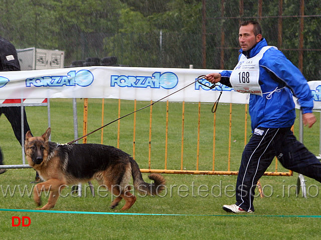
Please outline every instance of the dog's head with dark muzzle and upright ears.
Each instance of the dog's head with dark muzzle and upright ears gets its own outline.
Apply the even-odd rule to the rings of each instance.
[[[40,137],[32,136],[30,131],[26,133],[25,153],[30,166],[40,165],[47,158],[50,133],[51,128]]]

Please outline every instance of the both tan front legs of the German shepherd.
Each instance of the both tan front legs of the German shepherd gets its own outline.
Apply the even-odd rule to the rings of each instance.
[[[58,179],[50,179],[45,182],[38,183],[34,188],[34,200],[38,206],[41,205],[41,192],[50,191],[48,203],[37,210],[48,210],[53,208],[58,200],[60,190],[64,187],[64,182]]]

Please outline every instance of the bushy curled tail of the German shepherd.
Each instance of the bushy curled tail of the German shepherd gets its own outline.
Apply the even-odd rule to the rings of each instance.
[[[142,192],[147,193],[148,195],[157,195],[159,192],[165,189],[165,178],[158,173],[151,173],[148,175],[150,180],[153,180],[153,183],[147,183],[142,179],[141,172],[139,170],[138,164],[133,158],[130,158],[131,163],[131,174],[133,178],[134,187]]]

